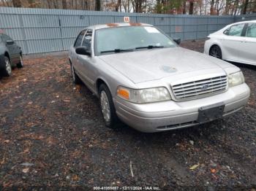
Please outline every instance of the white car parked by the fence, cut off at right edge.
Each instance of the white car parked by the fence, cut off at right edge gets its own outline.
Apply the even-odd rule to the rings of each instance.
[[[256,20],[233,23],[210,34],[204,52],[225,61],[256,65]]]

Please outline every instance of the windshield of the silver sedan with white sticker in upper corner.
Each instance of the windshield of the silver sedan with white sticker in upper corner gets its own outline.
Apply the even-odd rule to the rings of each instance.
[[[176,47],[175,42],[152,26],[103,28],[95,34],[95,54]]]

